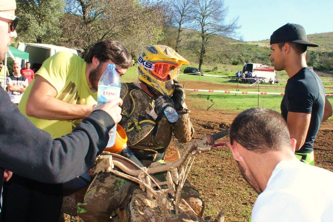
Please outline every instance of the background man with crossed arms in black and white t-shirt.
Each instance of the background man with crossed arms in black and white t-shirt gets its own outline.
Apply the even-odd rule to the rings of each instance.
[[[22,95],[29,84],[28,79],[21,75],[20,70],[20,64],[14,63],[13,74],[9,75],[6,79],[10,100],[16,105],[20,103]]]

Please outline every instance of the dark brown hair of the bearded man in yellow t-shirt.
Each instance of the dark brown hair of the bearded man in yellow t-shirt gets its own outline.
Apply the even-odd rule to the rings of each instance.
[[[91,63],[94,56],[102,63],[110,59],[116,65],[126,69],[132,65],[131,53],[125,48],[125,46],[115,40],[97,42],[89,49],[84,60],[87,63]]]

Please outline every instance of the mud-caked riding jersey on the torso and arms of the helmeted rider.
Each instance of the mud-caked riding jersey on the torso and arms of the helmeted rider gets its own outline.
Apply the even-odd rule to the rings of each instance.
[[[164,159],[171,141],[172,132],[182,143],[193,135],[188,114],[179,114],[177,122],[171,124],[164,116],[156,122],[151,116],[155,98],[149,96],[133,83],[122,83],[122,120],[120,125],[128,137],[127,145],[139,160],[158,161]]]

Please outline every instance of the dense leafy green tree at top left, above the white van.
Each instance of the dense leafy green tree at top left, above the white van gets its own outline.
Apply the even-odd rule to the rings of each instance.
[[[63,0],[16,0],[19,40],[55,44],[61,36],[59,20],[64,14]]]

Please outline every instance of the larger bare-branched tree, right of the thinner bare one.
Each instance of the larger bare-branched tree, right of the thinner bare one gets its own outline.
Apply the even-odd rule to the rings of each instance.
[[[235,37],[235,31],[239,28],[238,18],[227,23],[228,7],[224,5],[224,0],[194,0],[192,13],[196,30],[192,33],[196,38],[190,42],[190,48],[198,54],[198,69],[201,71],[206,53],[220,44],[215,41],[217,36]]]

